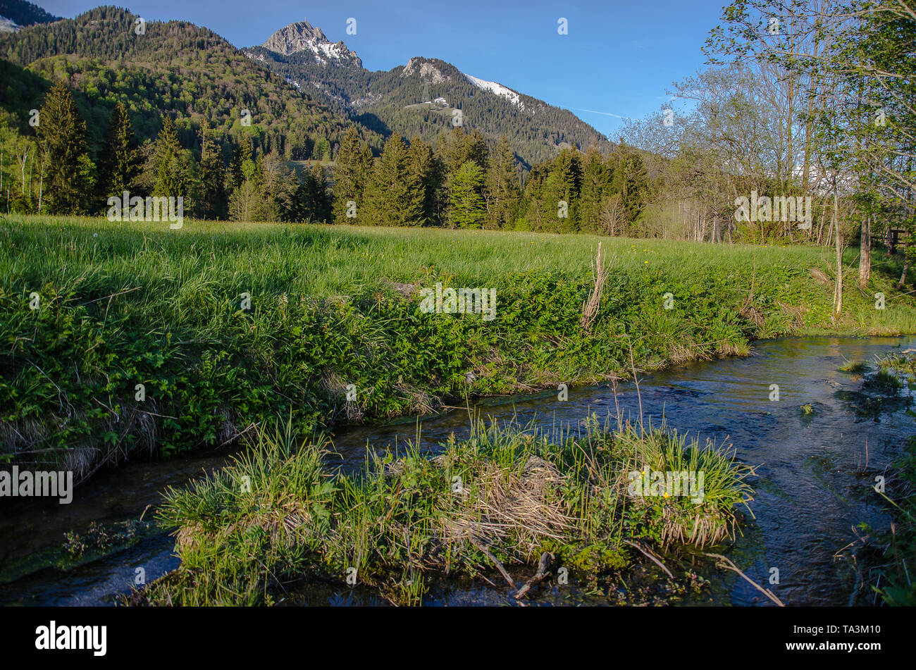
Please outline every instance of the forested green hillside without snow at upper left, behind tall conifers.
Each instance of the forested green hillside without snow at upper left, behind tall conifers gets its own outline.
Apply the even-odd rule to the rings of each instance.
[[[50,82],[66,74],[95,148],[119,102],[141,141],[158,133],[160,114],[169,112],[184,146],[196,145],[196,129],[206,121],[218,134],[254,135],[258,148],[289,159],[310,158],[322,140],[338,143],[351,125],[205,27],[149,21],[139,31],[138,20],[104,6],[0,35],[0,108],[27,131],[28,110],[40,107]],[[361,135],[381,146],[379,135]]]

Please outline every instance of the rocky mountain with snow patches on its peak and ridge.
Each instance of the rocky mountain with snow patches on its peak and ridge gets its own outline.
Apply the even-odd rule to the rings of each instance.
[[[314,93],[336,113],[380,135],[419,135],[434,142],[460,120],[465,130],[484,135],[490,146],[506,135],[526,168],[566,146],[584,150],[594,144],[605,153],[613,148],[575,114],[440,59],[417,57],[393,70],[365,70],[343,41],[332,43],[321,28],[304,21],[244,51],[291,85]]]

